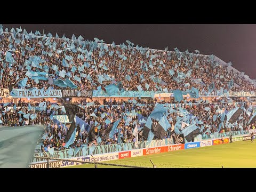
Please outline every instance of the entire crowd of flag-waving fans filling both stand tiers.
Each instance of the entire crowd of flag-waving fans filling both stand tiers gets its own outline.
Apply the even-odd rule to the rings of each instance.
[[[18,30],[17,30],[18,31]],[[180,89],[186,91],[191,87],[198,88],[199,90],[207,90],[212,82],[215,84],[215,90],[230,90],[228,86],[229,81],[233,80],[236,86],[231,87],[231,91],[254,91],[254,84],[248,81],[245,77],[235,73],[234,70],[227,70],[227,66],[219,65],[217,61],[214,61],[213,55],[200,55],[195,53],[189,53],[188,51],[180,52],[178,49],[175,51],[161,51],[143,49],[139,46],[131,46],[122,44],[120,46],[113,44],[100,43],[98,39],[95,42],[82,41],[81,37],[67,39],[53,38],[50,34],[47,36],[34,35],[32,33],[6,32],[0,34],[0,88],[35,88],[35,89],[48,89],[49,86],[52,89],[60,89],[57,85],[53,85],[50,81],[39,81],[36,83],[34,79],[28,78],[28,82],[25,87],[21,87],[18,84],[23,78],[27,77],[25,74],[29,71],[47,72],[52,74],[49,78],[62,79],[69,78],[75,85],[77,90],[97,90],[98,86],[104,90],[105,82],[101,82],[99,79],[101,75],[108,75],[114,77],[116,82],[122,82],[125,90],[138,90],[137,86],[141,85],[142,90],[175,90]],[[10,63],[6,61],[6,53],[11,52],[14,62]],[[36,56],[42,59],[39,66],[33,67],[28,62],[31,57]],[[25,63],[29,63],[26,64]],[[64,64],[63,64],[64,63]],[[56,67],[57,68],[56,68]],[[76,67],[76,68],[74,68]],[[60,71],[65,70],[67,72],[65,77],[60,76]],[[77,78],[81,81],[77,81]],[[153,81],[153,78],[161,79],[160,82]],[[107,80],[107,79],[106,79]],[[108,82],[110,83],[110,82]],[[149,88],[147,87],[149,85]],[[138,104],[143,105],[138,105]],[[135,116],[131,121],[127,121],[127,114],[130,114],[132,110],[141,114],[144,117],[148,117],[154,110],[155,102],[142,103],[138,100],[137,104],[132,101],[104,101],[104,105],[100,106],[86,106],[80,107],[79,113],[76,114],[79,118],[85,121],[87,124],[97,122],[94,126],[94,131],[97,133],[97,138],[89,142],[89,133],[86,131],[79,132],[79,136],[76,139],[75,145],[71,147],[80,147],[82,145],[109,145],[117,142],[134,142],[137,138],[132,134],[134,127],[138,126],[140,130],[138,132],[138,140],[147,140],[142,137],[141,127],[144,123],[139,123],[138,118]],[[189,114],[196,116],[197,121],[190,123],[196,123],[201,134],[204,134],[206,130],[210,130],[211,133],[217,132],[218,125],[220,123],[220,117],[216,120],[213,116],[219,114],[219,110],[225,108],[227,111],[235,107],[240,107],[242,104],[232,103],[225,99],[224,102],[212,101],[202,103],[186,103],[182,101],[181,104],[175,106],[175,110],[185,109]],[[251,104],[250,104],[251,105]],[[6,126],[23,126],[23,125],[45,125],[45,134],[47,138],[43,139],[43,145],[45,150],[47,147],[53,147],[55,149],[65,148],[65,137],[68,132],[68,128],[54,123],[51,119],[51,115],[65,114],[59,109],[55,109],[51,106],[49,101],[46,101],[46,108],[43,111],[37,111],[34,108],[31,110],[28,107],[28,103],[21,100],[17,103],[17,109],[13,108],[14,103],[9,103],[5,106],[4,103],[0,108],[0,122]],[[33,106],[33,105],[32,105]],[[167,104],[166,104],[167,106]],[[210,110],[206,111],[205,107],[209,107]],[[246,106],[248,109],[250,106]],[[171,127],[166,131],[164,138],[170,138],[171,132],[177,123],[177,116],[181,113],[171,112],[172,108],[168,107],[167,119],[171,124]],[[23,113],[19,113],[22,111]],[[36,114],[36,118],[26,118],[23,114]],[[94,113],[97,117],[91,116]],[[101,114],[105,113],[106,117],[102,118]],[[220,132],[229,132],[233,130],[250,129],[247,126],[252,113],[247,113],[245,110],[234,125],[224,125]],[[106,119],[110,120],[110,124],[105,122]],[[117,129],[120,131],[115,132],[113,138],[105,138],[106,129],[111,126],[118,119],[121,122],[118,124]],[[195,121],[195,119],[194,119]],[[134,123],[135,122],[135,123]],[[153,119],[153,123],[157,124],[157,121]],[[185,128],[179,127],[180,131]],[[120,134],[121,141],[118,141],[118,134]],[[209,131],[207,131],[209,134]],[[53,135],[53,137],[52,137]],[[51,139],[49,139],[51,138]],[[100,138],[100,140],[99,140]],[[162,138],[154,138],[162,139]]]

